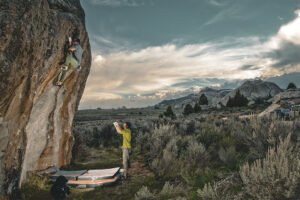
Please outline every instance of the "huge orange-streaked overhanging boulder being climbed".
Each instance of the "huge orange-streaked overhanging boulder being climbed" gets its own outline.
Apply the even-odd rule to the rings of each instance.
[[[79,0],[1,0],[0,26],[1,198],[14,193],[28,171],[70,162],[91,52]],[[82,70],[57,87],[69,36],[81,40]]]

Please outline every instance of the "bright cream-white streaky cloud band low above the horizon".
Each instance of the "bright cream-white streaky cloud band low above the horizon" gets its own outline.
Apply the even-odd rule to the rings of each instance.
[[[176,86],[183,80],[234,81],[300,71],[299,13],[296,11],[297,17],[267,40],[225,38],[200,44],[169,43],[95,54],[81,107],[92,104],[139,107],[187,91],[197,92],[203,87],[197,81],[194,85]],[[223,83],[209,82],[215,87]]]

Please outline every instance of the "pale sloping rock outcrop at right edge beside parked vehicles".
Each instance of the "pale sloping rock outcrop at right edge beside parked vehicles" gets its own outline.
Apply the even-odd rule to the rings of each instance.
[[[279,108],[291,109],[295,105],[300,105],[300,89],[285,90],[272,98],[272,104],[259,114],[260,117],[269,115]]]

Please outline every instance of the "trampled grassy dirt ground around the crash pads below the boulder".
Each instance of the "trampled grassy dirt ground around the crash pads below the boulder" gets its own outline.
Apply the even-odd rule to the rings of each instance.
[[[74,161],[65,170],[81,169],[106,169],[122,167],[122,152],[118,148],[98,148],[89,149],[89,155],[81,160]],[[134,199],[135,193],[143,185],[154,185],[158,181],[154,174],[147,168],[139,156],[131,156],[131,168],[127,179],[120,179],[112,186],[77,189],[71,188],[71,194],[67,199],[86,200],[129,200]],[[42,185],[44,184],[44,185]],[[45,181],[29,181],[22,187],[21,199],[52,199],[50,195],[51,184]]]

